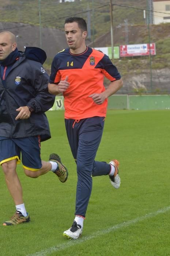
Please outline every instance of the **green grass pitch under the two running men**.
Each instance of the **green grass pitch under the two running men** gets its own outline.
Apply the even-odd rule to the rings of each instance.
[[[18,175],[31,222],[0,226],[2,256],[170,255],[170,112],[109,110],[96,160],[120,161],[120,189],[109,177],[94,177],[82,238],[62,236],[74,218],[76,165],[64,127],[64,112],[47,113],[52,139],[41,144],[42,159],[56,152],[69,170],[66,183],[53,173],[37,179]],[[0,172],[0,223],[15,205]]]

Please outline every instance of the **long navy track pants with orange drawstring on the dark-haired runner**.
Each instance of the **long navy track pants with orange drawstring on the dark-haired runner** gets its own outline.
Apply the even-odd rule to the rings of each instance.
[[[75,215],[86,215],[92,190],[92,176],[107,175],[110,172],[108,163],[94,160],[102,138],[104,119],[98,116],[80,120],[65,119],[69,145],[77,164]]]

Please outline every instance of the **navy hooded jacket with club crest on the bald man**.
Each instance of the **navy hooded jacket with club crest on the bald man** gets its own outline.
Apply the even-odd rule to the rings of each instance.
[[[25,53],[15,49],[0,62],[0,136],[51,138],[44,112],[52,108],[55,96],[48,92],[49,76],[42,67],[45,59],[42,49],[29,47]],[[28,119],[15,120],[20,106],[33,109]]]

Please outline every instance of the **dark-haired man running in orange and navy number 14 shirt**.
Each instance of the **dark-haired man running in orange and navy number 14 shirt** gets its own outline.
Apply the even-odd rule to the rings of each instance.
[[[77,164],[78,182],[75,219],[63,235],[78,239],[91,195],[92,177],[109,175],[113,187],[120,187],[119,162],[98,162],[95,156],[102,138],[107,98],[123,82],[108,56],[86,46],[87,24],[83,18],[67,18],[65,35],[69,48],[54,57],[48,88],[54,95],[64,95],[65,127]],[[107,89],[103,85],[104,76],[110,80]]]

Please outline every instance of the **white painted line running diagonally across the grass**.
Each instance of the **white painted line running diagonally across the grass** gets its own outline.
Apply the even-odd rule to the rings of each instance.
[[[95,232],[94,234],[92,234],[91,236],[85,236],[85,237],[79,238],[78,240],[69,240],[68,242],[65,242],[63,244],[52,246],[52,247],[47,248],[45,250],[42,250],[40,252],[35,252],[33,254],[29,254],[28,256],[45,256],[45,255],[48,255],[49,253],[62,251],[62,250],[66,249],[68,247],[71,247],[73,245],[81,244],[83,242],[86,242],[86,241],[91,240],[93,238],[96,238],[98,236],[102,236],[104,234],[110,233],[113,230],[120,229],[121,227],[128,227],[128,226],[130,226],[132,224],[135,224],[135,223],[137,223],[139,221],[143,221],[144,219],[148,219],[148,218],[154,217],[154,216],[156,216],[158,214],[167,212],[169,210],[170,210],[170,206],[162,208],[162,209],[159,209],[158,211],[155,211],[155,212],[151,212],[149,214],[146,214],[144,216],[138,217],[136,219],[132,219],[131,221],[122,222],[122,223],[117,224],[115,226],[109,227],[109,229],[99,230],[99,231]]]

